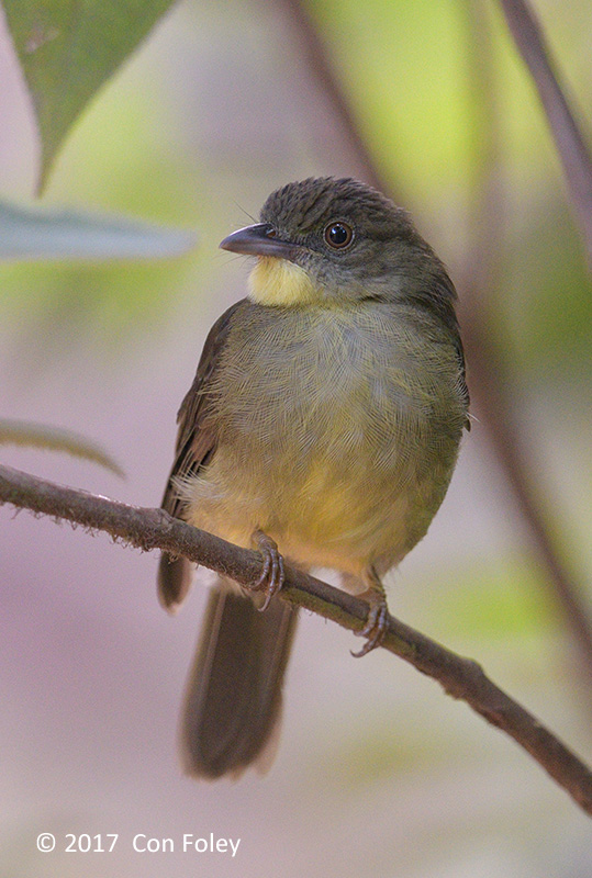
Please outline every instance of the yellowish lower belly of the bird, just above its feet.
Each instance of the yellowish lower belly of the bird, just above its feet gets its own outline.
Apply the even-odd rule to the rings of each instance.
[[[407,549],[416,486],[395,435],[370,451],[364,429],[356,440],[326,421],[294,439],[222,443],[191,483],[191,524],[242,545],[260,529],[295,562],[356,576],[377,558],[387,559],[384,567],[396,563]]]

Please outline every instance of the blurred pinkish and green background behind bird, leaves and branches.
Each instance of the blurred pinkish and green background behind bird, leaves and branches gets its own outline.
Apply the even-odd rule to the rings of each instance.
[[[306,8],[379,172],[461,299],[483,230],[476,199],[485,175],[494,183],[490,328],[557,544],[590,583],[590,283],[548,126],[499,8]],[[0,415],[83,434],[126,479],[8,447],[5,463],[159,503],[205,334],[245,294],[248,264],[219,241],[283,182],[361,173],[287,9],[183,0],[75,126],[45,203],[194,228],[199,244],[160,261],[0,264]],[[590,3],[536,9],[590,120]],[[0,81],[0,193],[26,199],[38,150],[3,24]],[[237,784],[185,778],[178,709],[205,593],[197,586],[167,617],[156,565],[155,553],[104,534],[0,508],[0,875],[590,874],[589,822],[535,762],[392,655],[353,661],[353,637],[317,617],[302,618],[271,772]],[[590,608],[590,587],[581,597]],[[590,668],[481,418],[389,600],[393,615],[481,662],[590,762]],[[120,840],[112,854],[40,854],[41,832]],[[172,837],[177,849],[134,853],[136,833]],[[183,833],[241,845],[234,859],[183,854]]]

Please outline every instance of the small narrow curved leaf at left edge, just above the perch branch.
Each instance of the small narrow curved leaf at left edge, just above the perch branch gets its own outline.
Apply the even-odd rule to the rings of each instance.
[[[66,451],[76,458],[85,458],[124,477],[123,470],[99,446],[70,430],[47,427],[44,424],[30,424],[23,420],[0,418],[0,444],[46,448],[52,451]]]

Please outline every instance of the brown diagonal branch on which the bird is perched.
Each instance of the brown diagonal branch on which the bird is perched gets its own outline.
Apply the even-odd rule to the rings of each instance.
[[[103,530],[114,539],[145,551],[161,549],[185,555],[246,587],[260,573],[261,561],[257,552],[239,549],[192,528],[163,509],[129,506],[10,466],[0,466],[2,503],[91,530]],[[293,567],[286,567],[281,596],[350,631],[359,631],[368,614],[364,600]],[[476,662],[456,655],[392,617],[382,646],[436,679],[448,695],[466,701],[488,722],[513,738],[592,815],[592,772],[535,717],[495,686]]]

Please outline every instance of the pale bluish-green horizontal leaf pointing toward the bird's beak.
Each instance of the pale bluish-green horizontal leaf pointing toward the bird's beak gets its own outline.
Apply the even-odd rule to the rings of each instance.
[[[69,209],[0,200],[0,259],[137,259],[178,256],[191,232]]]

